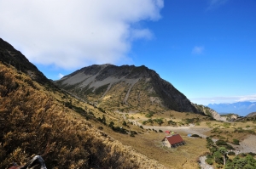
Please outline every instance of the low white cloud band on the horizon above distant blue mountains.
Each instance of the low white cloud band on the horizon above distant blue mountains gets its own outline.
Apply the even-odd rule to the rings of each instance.
[[[193,98],[190,99],[196,104],[221,104],[221,103],[236,103],[236,102],[256,102],[256,94],[244,96],[230,96],[230,97],[209,97],[209,98]]]

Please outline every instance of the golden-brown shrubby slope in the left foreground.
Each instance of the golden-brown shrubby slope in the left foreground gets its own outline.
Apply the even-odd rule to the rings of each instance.
[[[42,155],[48,168],[165,168],[96,130],[37,82],[0,64],[0,168]]]

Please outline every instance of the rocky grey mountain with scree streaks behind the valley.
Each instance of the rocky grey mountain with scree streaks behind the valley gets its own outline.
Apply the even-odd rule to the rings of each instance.
[[[125,112],[170,109],[220,118],[214,110],[191,103],[170,82],[144,65],[91,65],[55,83],[103,109]]]

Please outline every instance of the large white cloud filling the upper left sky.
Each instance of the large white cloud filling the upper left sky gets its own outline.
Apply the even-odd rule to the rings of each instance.
[[[0,37],[33,63],[80,68],[129,58],[131,42],[152,32],[163,0],[0,0]]]

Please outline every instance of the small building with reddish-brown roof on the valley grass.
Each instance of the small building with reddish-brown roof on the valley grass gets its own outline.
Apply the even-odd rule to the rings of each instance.
[[[175,148],[177,146],[184,145],[185,142],[183,141],[183,138],[179,134],[174,134],[163,138],[162,144],[169,148]]]

